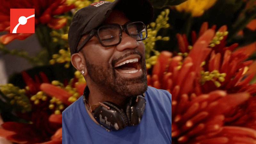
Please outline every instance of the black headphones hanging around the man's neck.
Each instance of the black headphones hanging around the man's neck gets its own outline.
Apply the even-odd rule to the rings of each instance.
[[[145,93],[143,93],[143,96],[138,95],[127,99],[125,111],[109,101],[98,102],[91,107],[90,105],[87,107],[89,93],[89,88],[86,85],[83,94],[85,108],[92,113],[96,121],[108,132],[140,124],[146,106]]]

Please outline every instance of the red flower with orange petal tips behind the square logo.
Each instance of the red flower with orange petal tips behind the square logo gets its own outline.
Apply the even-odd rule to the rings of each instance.
[[[0,32],[7,31],[9,34],[0,37],[0,42],[9,44],[14,39],[24,40],[32,34],[10,34],[10,9],[35,9],[35,27],[39,23],[47,24],[50,28],[60,29],[66,25],[66,18],[53,18],[55,15],[68,12],[75,5],[65,4],[66,0],[1,0],[0,5]]]

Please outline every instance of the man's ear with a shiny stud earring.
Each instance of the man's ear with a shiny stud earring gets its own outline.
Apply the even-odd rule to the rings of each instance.
[[[85,58],[82,52],[74,53],[71,56],[71,63],[72,65],[82,73],[82,70],[84,71],[83,76],[87,75],[87,68],[85,64]]]

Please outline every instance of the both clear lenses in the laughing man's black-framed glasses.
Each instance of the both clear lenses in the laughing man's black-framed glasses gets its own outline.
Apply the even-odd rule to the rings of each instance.
[[[126,26],[129,36],[135,40],[142,40],[146,37],[146,28],[142,22],[130,23]],[[118,26],[103,26],[99,28],[99,38],[102,44],[114,45],[120,41],[120,27]]]

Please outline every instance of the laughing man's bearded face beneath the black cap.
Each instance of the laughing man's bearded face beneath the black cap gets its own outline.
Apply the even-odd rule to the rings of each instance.
[[[103,24],[124,25],[128,21],[123,12],[114,10]],[[103,47],[93,36],[82,52],[88,76],[98,88],[124,97],[140,95],[147,90],[145,45],[125,31],[121,43],[112,47]]]

